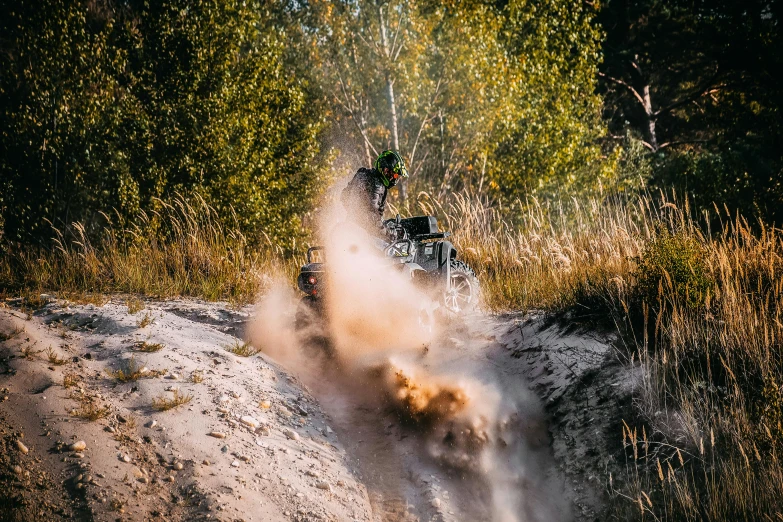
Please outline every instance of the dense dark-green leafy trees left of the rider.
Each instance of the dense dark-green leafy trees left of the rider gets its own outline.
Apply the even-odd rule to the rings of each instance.
[[[0,56],[0,215],[13,239],[201,195],[274,242],[318,195],[317,91],[262,1],[21,2]],[[307,49],[300,49],[302,57]],[[154,220],[153,220],[154,221]],[[154,225],[154,223],[153,223]]]

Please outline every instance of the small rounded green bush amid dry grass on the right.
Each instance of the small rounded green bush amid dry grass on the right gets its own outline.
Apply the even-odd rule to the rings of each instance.
[[[635,292],[648,304],[673,298],[678,304],[703,306],[712,287],[706,251],[693,234],[661,227],[636,258]]]

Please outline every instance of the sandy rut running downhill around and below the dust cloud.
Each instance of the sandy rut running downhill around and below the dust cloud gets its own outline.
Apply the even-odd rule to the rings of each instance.
[[[355,368],[346,375],[327,361],[325,371],[300,374],[356,459],[375,520],[572,519],[541,402],[527,389],[526,369],[499,341],[513,327],[513,321],[479,315],[455,321],[438,341],[437,354],[415,358],[422,370],[496,387],[513,405],[516,422],[506,437],[508,447],[492,448],[492,460],[482,471],[433,458],[427,451],[433,436],[426,427],[406,422],[383,400],[386,390]]]

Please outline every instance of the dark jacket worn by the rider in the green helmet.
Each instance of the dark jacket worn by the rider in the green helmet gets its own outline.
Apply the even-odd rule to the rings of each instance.
[[[389,193],[381,180],[382,175],[376,169],[359,169],[340,197],[348,210],[348,218],[373,234],[381,230]]]

